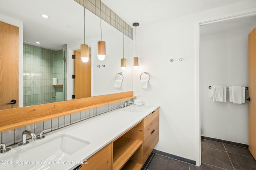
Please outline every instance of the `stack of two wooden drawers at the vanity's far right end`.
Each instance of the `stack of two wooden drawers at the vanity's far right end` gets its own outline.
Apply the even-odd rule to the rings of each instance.
[[[143,164],[159,141],[159,108],[144,118]]]

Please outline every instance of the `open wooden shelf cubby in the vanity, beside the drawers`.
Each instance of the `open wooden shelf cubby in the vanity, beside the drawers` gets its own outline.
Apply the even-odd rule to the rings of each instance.
[[[129,158],[142,145],[142,141],[120,137],[114,142],[113,148],[113,170],[119,170]]]

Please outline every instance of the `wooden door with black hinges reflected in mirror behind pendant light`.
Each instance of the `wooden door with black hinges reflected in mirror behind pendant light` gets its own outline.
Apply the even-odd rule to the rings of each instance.
[[[91,97],[91,55],[87,63],[82,62],[81,53],[74,51],[74,93],[76,99]]]

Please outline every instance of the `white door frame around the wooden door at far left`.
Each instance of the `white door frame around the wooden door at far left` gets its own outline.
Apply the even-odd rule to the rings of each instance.
[[[19,27],[19,107],[23,106],[23,22],[0,14],[0,21]]]

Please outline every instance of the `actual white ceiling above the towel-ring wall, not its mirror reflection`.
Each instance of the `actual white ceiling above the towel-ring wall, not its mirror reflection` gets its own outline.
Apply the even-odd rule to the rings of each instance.
[[[102,0],[132,26],[148,25],[244,0]]]

